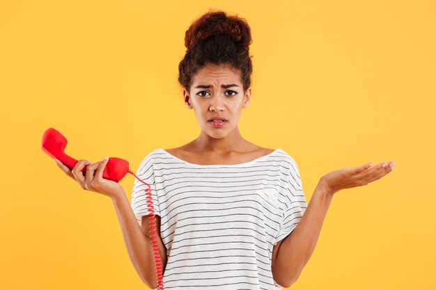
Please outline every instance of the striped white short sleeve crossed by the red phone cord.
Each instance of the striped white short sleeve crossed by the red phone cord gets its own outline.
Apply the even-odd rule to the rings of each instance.
[[[139,165],[136,175],[143,182],[146,182],[150,185],[151,195],[153,198],[153,209],[155,210],[155,215],[160,216],[159,201],[157,199],[156,193],[155,172],[153,168],[152,153],[148,154],[143,159],[141,165]],[[148,202],[146,198],[147,188],[148,186],[146,184],[143,184],[135,177],[132,189],[132,201],[130,202],[130,206],[132,207],[134,215],[137,217],[139,225],[141,225],[141,217],[148,216],[149,214]]]

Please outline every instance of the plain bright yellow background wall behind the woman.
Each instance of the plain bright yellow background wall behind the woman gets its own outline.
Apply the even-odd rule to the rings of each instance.
[[[0,289],[146,289],[113,204],[40,149],[136,172],[199,134],[178,63],[209,8],[249,22],[247,140],[288,152],[306,199],[327,172],[396,169],[335,194],[291,289],[436,289],[435,1],[0,1]],[[134,177],[120,184],[130,199]]]

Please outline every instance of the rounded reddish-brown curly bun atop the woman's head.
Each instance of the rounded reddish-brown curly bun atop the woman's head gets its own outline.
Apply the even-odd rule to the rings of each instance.
[[[228,16],[224,11],[206,13],[197,19],[185,33],[185,47],[190,49],[198,42],[217,34],[231,36],[234,42],[248,50],[251,31],[247,21],[241,17]]]

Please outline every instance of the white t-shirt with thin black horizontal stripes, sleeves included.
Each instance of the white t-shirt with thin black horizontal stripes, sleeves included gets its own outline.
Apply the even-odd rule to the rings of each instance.
[[[272,249],[306,210],[297,163],[283,150],[234,165],[199,165],[163,149],[137,176],[150,184],[166,247],[164,289],[282,289]],[[147,202],[135,179],[131,207],[141,225]]]

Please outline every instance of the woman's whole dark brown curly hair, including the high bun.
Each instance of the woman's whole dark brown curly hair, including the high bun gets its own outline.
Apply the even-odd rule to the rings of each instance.
[[[189,90],[192,76],[207,64],[228,64],[240,70],[244,92],[251,85],[251,30],[247,20],[210,10],[196,19],[185,33],[185,57],[180,61],[178,81]]]

